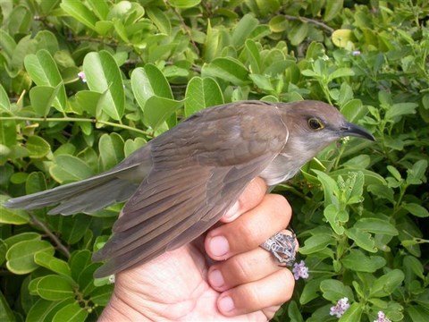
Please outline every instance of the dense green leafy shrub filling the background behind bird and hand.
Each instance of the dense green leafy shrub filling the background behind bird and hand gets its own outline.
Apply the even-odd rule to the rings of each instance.
[[[344,140],[278,187],[310,277],[276,321],[429,316],[426,0],[2,0],[1,200],[97,174],[195,111],[318,99]],[[78,76],[84,72],[86,82]],[[297,156],[299,157],[299,156]],[[0,320],[95,320],[112,292],[93,216],[0,208]]]

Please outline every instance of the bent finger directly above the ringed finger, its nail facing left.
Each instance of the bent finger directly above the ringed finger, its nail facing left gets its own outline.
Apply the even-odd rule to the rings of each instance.
[[[280,195],[265,195],[262,202],[235,221],[221,225],[206,235],[206,253],[224,260],[254,250],[290,222],[291,208]]]

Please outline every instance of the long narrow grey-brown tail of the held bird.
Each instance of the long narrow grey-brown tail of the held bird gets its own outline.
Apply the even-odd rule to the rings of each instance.
[[[34,209],[59,204],[48,214],[90,214],[130,198],[139,185],[121,177],[132,172],[136,166],[108,171],[80,182],[71,182],[47,191],[9,199],[4,203],[4,207]]]

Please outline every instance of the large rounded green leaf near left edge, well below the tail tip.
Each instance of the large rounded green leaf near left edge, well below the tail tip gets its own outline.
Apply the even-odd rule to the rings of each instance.
[[[13,274],[28,274],[38,268],[34,255],[38,251],[54,254],[54,247],[46,241],[22,241],[13,244],[6,253],[6,267]]]

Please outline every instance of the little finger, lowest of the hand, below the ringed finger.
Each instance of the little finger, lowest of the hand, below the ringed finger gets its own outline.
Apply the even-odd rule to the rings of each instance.
[[[217,300],[217,307],[228,317],[271,308],[289,301],[294,285],[290,270],[281,269],[257,282],[241,284],[223,292]]]

